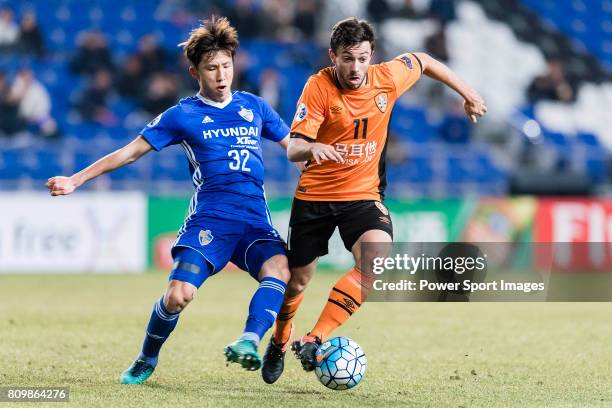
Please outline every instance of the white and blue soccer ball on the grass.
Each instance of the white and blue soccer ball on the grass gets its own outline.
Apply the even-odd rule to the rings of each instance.
[[[363,349],[348,337],[334,337],[321,344],[316,356],[315,374],[332,390],[348,390],[363,379],[366,358]]]

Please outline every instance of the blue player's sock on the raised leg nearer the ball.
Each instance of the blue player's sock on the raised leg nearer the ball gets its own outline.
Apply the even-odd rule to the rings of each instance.
[[[259,345],[266,331],[274,324],[276,315],[283,304],[287,284],[280,279],[265,277],[251,299],[242,340],[251,340]]]

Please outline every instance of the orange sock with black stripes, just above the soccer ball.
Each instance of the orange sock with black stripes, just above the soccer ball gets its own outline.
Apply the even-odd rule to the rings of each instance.
[[[329,292],[329,299],[310,335],[326,340],[332,331],[359,309],[365,300],[362,287],[367,288],[368,285],[369,279],[362,276],[357,267],[342,276]]]

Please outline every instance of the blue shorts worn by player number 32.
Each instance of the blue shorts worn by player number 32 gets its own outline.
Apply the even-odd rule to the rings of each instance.
[[[231,261],[259,280],[261,266],[275,255],[285,255],[285,242],[267,222],[196,217],[187,222],[172,247],[175,263],[170,279],[199,288]]]

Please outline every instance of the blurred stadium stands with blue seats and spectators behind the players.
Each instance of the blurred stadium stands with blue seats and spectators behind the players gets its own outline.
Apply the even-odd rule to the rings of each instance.
[[[71,174],[194,94],[177,44],[212,13],[240,35],[234,89],[288,123],[328,63],[331,26],[350,15],[375,23],[376,61],[426,51],[483,94],[477,126],[430,80],[398,102],[394,197],[609,191],[612,0],[0,0],[0,188]],[[289,195],[296,171],[267,147],[266,189]],[[168,149],[90,188],[183,193],[188,180]]]

